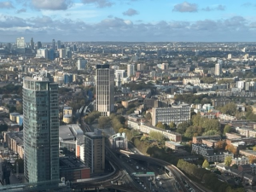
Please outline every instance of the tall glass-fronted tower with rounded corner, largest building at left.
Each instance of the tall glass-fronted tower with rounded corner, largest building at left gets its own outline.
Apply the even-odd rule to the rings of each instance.
[[[24,176],[30,183],[59,180],[58,84],[47,73],[23,80]]]

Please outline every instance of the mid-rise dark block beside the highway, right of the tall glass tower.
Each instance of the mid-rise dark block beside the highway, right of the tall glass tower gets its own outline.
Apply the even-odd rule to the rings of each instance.
[[[91,173],[104,172],[105,140],[98,129],[84,134],[84,164],[90,167]]]

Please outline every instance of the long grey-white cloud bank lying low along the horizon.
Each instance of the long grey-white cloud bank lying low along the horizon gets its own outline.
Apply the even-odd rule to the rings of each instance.
[[[0,35],[5,40],[22,35],[41,41],[52,38],[65,41],[252,41],[255,32],[256,20],[241,16],[222,20],[161,20],[154,23],[133,23],[113,17],[91,24],[68,18],[53,19],[46,15],[26,20],[0,15]]]

